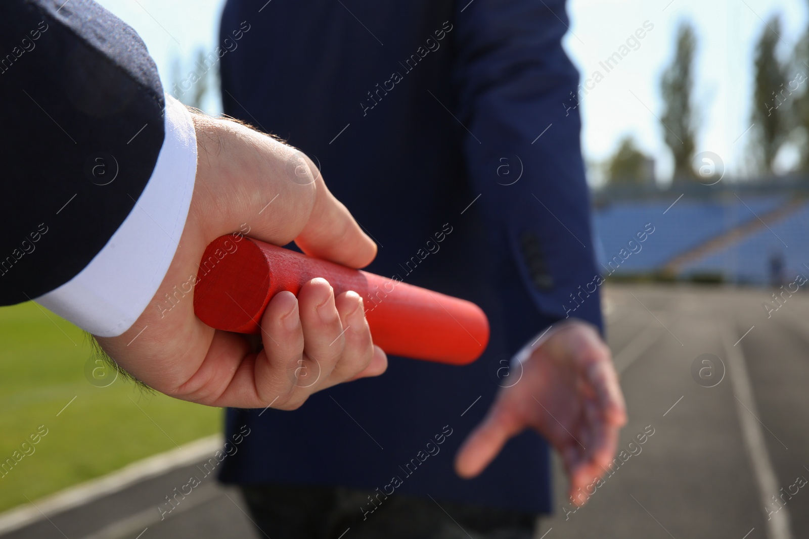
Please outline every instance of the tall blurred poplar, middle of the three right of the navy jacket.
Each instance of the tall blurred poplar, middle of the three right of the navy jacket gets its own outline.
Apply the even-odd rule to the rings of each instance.
[[[786,69],[776,57],[781,19],[773,16],[756,43],[751,121],[755,126],[754,154],[761,172],[773,172],[773,162],[789,135],[790,96],[785,89]]]

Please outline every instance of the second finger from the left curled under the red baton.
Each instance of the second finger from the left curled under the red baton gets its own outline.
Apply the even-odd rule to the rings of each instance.
[[[303,326],[303,361],[309,372],[317,374],[317,383],[307,381],[307,394],[320,389],[331,377],[343,350],[343,325],[334,289],[325,279],[312,279],[298,293]]]

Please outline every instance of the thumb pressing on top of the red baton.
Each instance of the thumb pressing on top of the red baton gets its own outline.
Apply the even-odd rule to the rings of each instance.
[[[314,165],[312,165],[314,166]],[[360,229],[349,210],[316,179],[311,216],[295,243],[307,255],[349,267],[365,267],[376,256],[376,244]]]

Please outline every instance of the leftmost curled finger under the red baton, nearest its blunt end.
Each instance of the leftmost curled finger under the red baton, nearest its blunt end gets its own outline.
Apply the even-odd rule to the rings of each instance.
[[[303,354],[303,328],[293,293],[277,293],[261,318],[264,350],[256,356],[256,391],[262,402],[286,401],[294,390],[294,372]]]

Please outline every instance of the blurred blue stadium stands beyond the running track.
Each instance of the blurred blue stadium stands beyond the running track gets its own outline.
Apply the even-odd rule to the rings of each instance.
[[[803,183],[600,192],[593,221],[599,263],[616,277],[783,284],[809,276]],[[636,245],[648,225],[654,234]]]

